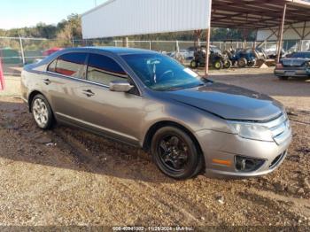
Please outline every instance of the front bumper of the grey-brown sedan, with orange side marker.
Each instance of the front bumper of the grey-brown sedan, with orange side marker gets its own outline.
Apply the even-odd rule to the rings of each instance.
[[[205,156],[205,173],[211,175],[251,177],[271,173],[282,164],[291,143],[291,128],[279,144],[212,130],[201,130],[196,135]],[[263,159],[264,163],[255,171],[243,172],[236,168],[236,156]],[[219,164],[214,160],[223,161]]]

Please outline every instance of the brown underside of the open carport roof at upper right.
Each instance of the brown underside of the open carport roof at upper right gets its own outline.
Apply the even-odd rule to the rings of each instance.
[[[213,0],[212,27],[260,29],[310,19],[310,2],[302,0]]]

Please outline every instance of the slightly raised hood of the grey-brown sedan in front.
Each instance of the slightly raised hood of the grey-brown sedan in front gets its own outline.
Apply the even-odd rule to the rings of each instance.
[[[267,95],[222,83],[166,92],[169,98],[211,112],[226,120],[272,120],[283,106]]]

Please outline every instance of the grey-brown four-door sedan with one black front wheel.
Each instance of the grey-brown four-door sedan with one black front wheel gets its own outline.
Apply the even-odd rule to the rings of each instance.
[[[38,128],[58,122],[141,147],[174,179],[268,174],[291,143],[279,102],[151,50],[58,51],[25,66],[21,96]]]

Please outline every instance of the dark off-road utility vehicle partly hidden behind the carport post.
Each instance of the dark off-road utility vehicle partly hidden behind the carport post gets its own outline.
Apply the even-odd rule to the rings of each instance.
[[[203,67],[205,66],[205,46],[200,46],[194,52],[194,58],[190,62],[190,67],[197,68],[198,66]],[[219,50],[216,46],[210,46],[210,55],[209,55],[209,63],[210,66],[213,66],[215,69],[222,69],[222,68],[230,68],[231,61],[229,57],[222,54],[221,50]]]

